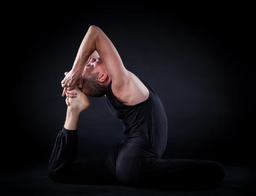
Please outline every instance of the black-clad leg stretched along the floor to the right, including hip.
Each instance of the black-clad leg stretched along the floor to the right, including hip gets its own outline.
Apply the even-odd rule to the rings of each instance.
[[[224,179],[224,169],[215,161],[157,159],[154,153],[125,144],[116,161],[116,177],[137,187],[209,187]]]

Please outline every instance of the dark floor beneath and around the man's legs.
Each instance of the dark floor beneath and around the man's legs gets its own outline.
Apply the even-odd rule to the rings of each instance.
[[[46,166],[46,167],[45,167]],[[218,187],[206,190],[155,190],[109,185],[76,185],[52,182],[47,165],[5,173],[0,177],[1,196],[246,196],[253,195],[255,170],[250,167],[224,166],[226,176]],[[254,188],[255,189],[255,188]],[[249,192],[250,191],[250,192]],[[254,191],[255,192],[255,191]],[[255,194],[255,193],[254,193]]]

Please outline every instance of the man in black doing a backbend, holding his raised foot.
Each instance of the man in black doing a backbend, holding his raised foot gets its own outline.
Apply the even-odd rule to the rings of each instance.
[[[215,161],[160,159],[167,139],[163,104],[151,86],[125,69],[99,27],[89,27],[61,84],[68,107],[49,160],[53,181],[174,187],[217,184],[224,179],[223,167]],[[79,116],[90,107],[86,95],[105,95],[109,111],[123,123],[125,138],[100,160],[74,163]]]

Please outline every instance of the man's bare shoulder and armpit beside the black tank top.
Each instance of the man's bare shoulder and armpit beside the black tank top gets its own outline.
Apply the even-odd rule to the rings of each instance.
[[[113,95],[123,104],[135,105],[145,101],[149,96],[148,88],[132,72],[122,80],[112,80],[111,89]]]

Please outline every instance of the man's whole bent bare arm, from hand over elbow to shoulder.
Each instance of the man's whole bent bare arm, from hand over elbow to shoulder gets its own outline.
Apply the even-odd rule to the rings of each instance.
[[[83,72],[84,66],[94,51],[98,52],[105,63],[106,71],[112,79],[112,84],[122,86],[124,82],[128,81],[128,71],[125,69],[115,46],[99,27],[92,25],[81,42],[72,70],[61,82],[62,87],[73,89],[74,86],[79,84],[79,77]]]

